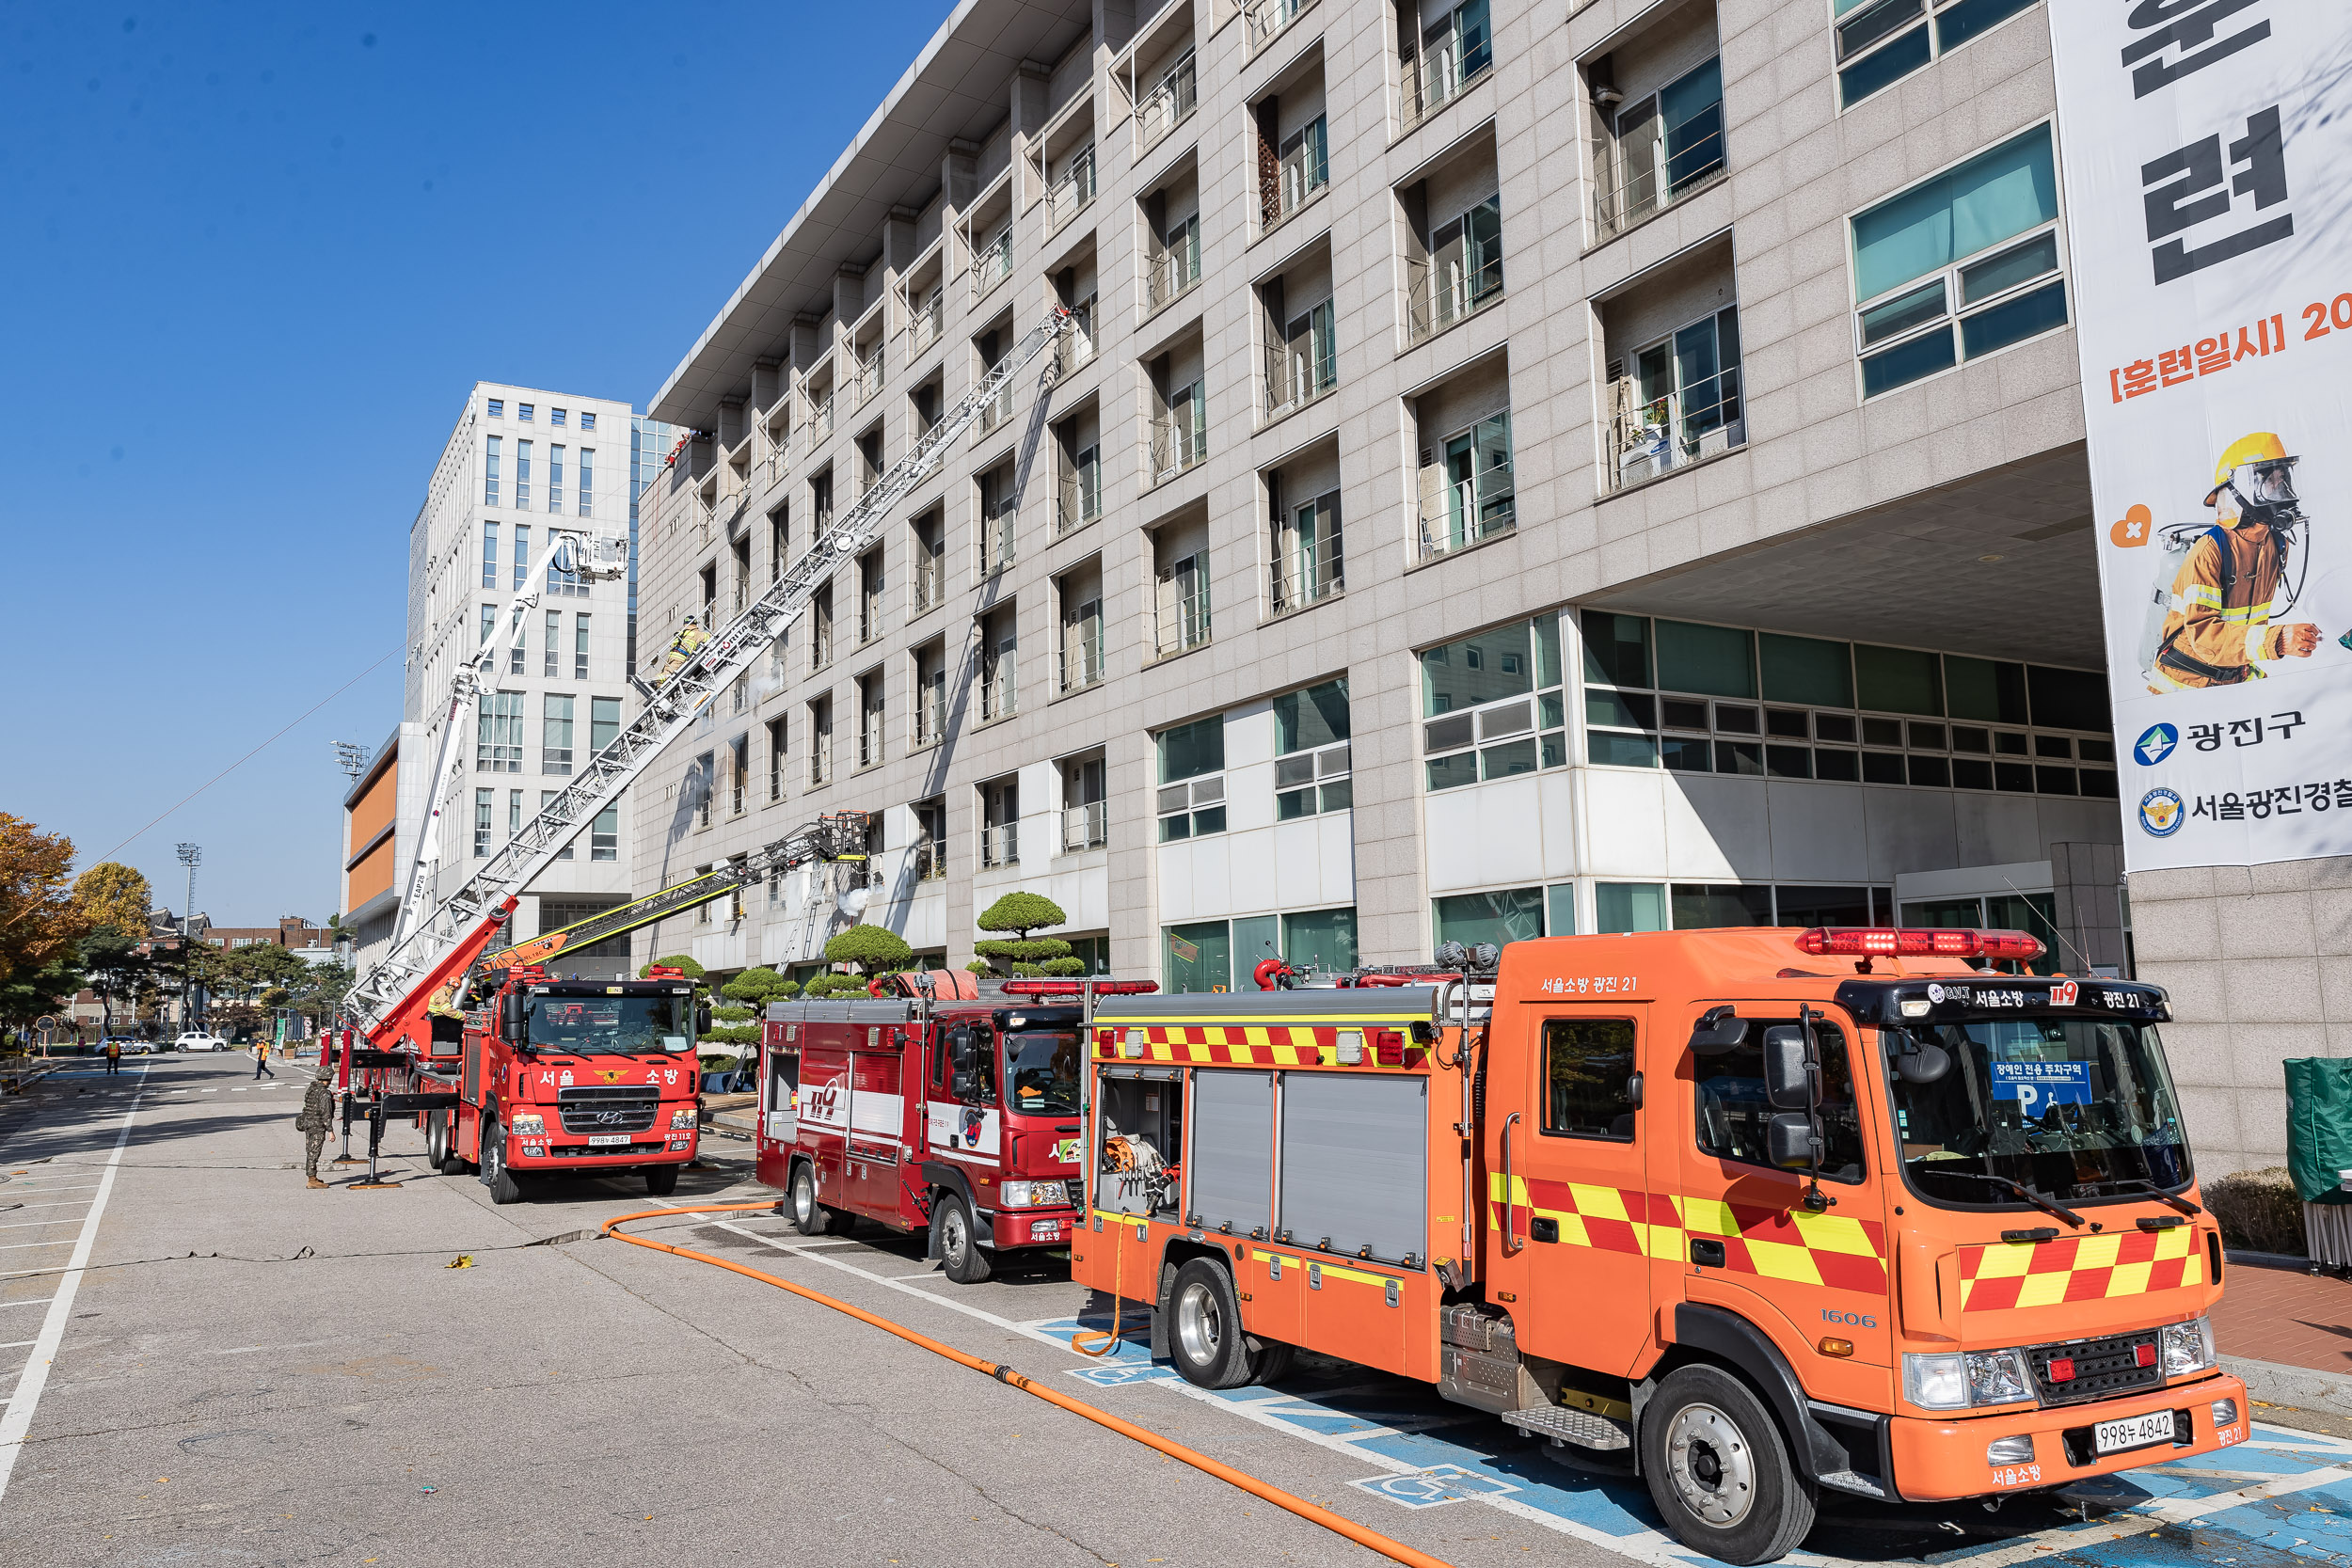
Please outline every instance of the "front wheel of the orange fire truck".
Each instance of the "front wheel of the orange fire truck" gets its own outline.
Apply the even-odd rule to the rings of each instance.
[[[1675,1540],[1719,1563],[1771,1563],[1813,1528],[1813,1488],[1778,1422],[1719,1366],[1665,1375],[1642,1410],[1642,1472]]]

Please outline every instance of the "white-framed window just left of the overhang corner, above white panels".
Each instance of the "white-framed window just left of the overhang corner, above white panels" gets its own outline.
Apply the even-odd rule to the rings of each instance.
[[[1559,618],[1512,621],[1421,654],[1421,712],[1430,790],[1566,766]]]

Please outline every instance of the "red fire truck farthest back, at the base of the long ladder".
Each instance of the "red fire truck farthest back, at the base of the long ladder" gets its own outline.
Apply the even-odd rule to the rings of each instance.
[[[383,1053],[376,1100],[421,1112],[426,1157],[445,1175],[480,1171],[494,1204],[555,1171],[642,1173],[666,1197],[694,1159],[696,1025],[677,969],[644,980],[492,969],[463,1016],[430,1016],[426,1051]]]

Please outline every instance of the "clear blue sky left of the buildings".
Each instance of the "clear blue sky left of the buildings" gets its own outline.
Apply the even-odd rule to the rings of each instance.
[[[332,914],[466,390],[642,409],[948,9],[9,0],[0,811]]]

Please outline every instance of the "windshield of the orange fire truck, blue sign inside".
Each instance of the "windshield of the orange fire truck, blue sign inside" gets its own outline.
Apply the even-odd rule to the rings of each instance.
[[[2145,1197],[2190,1182],[2164,1046],[2150,1025],[2002,1018],[1886,1030],[1896,1140],[1912,1190],[1936,1204],[2023,1208],[2018,1182],[2058,1204]],[[1936,1051],[1950,1070],[1912,1079]],[[1929,1067],[1931,1070],[1931,1067]],[[1985,1180],[1994,1178],[1994,1180]]]

